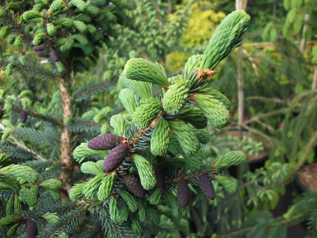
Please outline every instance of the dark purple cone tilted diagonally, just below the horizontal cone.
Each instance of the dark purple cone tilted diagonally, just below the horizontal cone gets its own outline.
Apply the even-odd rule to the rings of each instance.
[[[108,154],[103,171],[108,174],[114,171],[125,159],[128,151],[128,144],[122,143],[114,147]]]

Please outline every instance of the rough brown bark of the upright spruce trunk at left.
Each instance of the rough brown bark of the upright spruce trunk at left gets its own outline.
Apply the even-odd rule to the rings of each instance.
[[[66,119],[73,116],[72,95],[70,92],[69,78],[61,78],[59,82],[60,96],[63,102],[63,123],[60,134],[60,164],[63,167],[63,172],[59,179],[63,183],[67,183],[73,172],[73,158],[71,155],[71,132],[66,128]]]

